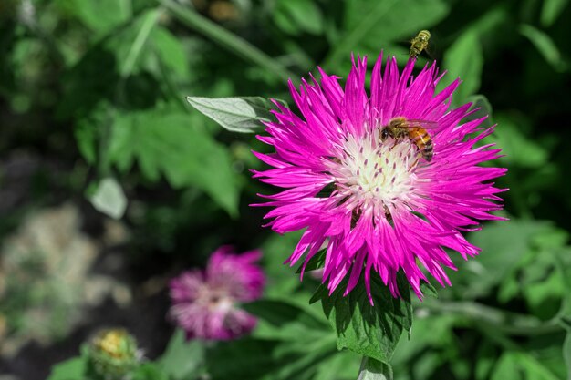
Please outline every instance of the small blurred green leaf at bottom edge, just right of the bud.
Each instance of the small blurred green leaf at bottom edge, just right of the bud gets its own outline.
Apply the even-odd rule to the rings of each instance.
[[[204,360],[204,346],[201,341],[188,342],[184,332],[177,329],[171,336],[167,349],[157,364],[172,380],[182,380],[196,375]]]

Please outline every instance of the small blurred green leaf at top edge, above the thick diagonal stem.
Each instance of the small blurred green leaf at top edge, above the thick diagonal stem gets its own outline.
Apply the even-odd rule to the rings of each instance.
[[[273,12],[275,24],[285,33],[298,35],[323,32],[323,15],[314,3],[307,0],[278,0]]]

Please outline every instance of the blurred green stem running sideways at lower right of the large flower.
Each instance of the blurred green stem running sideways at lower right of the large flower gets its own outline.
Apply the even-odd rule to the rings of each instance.
[[[491,324],[505,334],[530,336],[551,334],[563,330],[561,325],[558,324],[557,319],[542,322],[532,316],[517,313],[505,313],[502,310],[483,305],[482,303],[425,302],[422,303],[422,307],[426,307],[431,311],[439,313],[456,313],[465,316],[474,322]]]

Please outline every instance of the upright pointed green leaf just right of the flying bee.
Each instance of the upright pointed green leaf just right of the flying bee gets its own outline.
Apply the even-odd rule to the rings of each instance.
[[[482,77],[483,52],[480,36],[473,28],[469,28],[454,41],[444,54],[444,67],[448,70],[446,76],[449,81],[460,77],[462,84],[458,87],[454,98],[454,105],[465,103],[472,94],[480,88]],[[444,86],[444,82],[441,82]],[[439,87],[441,87],[439,86]]]

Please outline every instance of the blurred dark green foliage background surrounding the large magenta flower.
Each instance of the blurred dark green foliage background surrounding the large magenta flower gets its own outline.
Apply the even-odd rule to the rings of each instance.
[[[0,377],[45,378],[109,324],[160,356],[166,282],[225,243],[262,247],[267,297],[318,315],[316,283],[281,266],[296,236],[248,207],[272,191],[248,172],[267,147],[184,97],[288,101],[288,77],[345,77],[351,52],[403,65],[426,28],[419,67],[462,77],[453,104],[498,124],[510,221],[469,235],[482,254],[416,305],[396,378],[571,378],[570,21],[566,0],[0,0]],[[356,377],[358,358],[306,344],[276,361],[291,337],[270,330],[214,349],[211,377]]]

